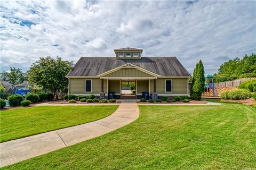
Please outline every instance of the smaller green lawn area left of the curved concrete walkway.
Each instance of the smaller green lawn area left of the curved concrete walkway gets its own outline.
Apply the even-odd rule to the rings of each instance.
[[[99,120],[118,106],[36,106],[0,112],[0,141]]]

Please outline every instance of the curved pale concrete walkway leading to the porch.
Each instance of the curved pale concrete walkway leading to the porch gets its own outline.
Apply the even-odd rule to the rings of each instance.
[[[99,137],[137,120],[138,117],[138,105],[124,103],[120,104],[113,114],[98,121],[0,143],[0,166],[18,163]]]

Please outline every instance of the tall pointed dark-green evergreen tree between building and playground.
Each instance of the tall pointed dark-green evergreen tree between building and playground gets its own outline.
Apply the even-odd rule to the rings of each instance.
[[[204,92],[204,65],[201,60],[196,64],[193,73],[193,80],[190,89],[190,96],[193,99],[200,100]]]

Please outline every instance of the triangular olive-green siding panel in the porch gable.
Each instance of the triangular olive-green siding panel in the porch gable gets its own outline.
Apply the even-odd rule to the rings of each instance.
[[[109,73],[104,77],[130,77],[130,78],[140,78],[140,77],[153,77],[152,75],[148,74],[148,73],[145,73],[145,72],[142,72],[138,69],[134,69],[134,68],[124,68],[124,69],[120,69],[120,70],[117,70],[113,73]]]

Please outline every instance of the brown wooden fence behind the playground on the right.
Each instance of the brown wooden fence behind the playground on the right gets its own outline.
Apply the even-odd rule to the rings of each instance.
[[[248,81],[248,80],[252,80],[252,78],[213,83],[215,97],[220,97],[220,94],[224,91],[228,91],[228,90],[231,90],[231,89],[238,88],[238,86],[242,82]],[[213,95],[213,89],[208,89],[208,91],[205,91],[203,93],[203,96],[214,96]]]

